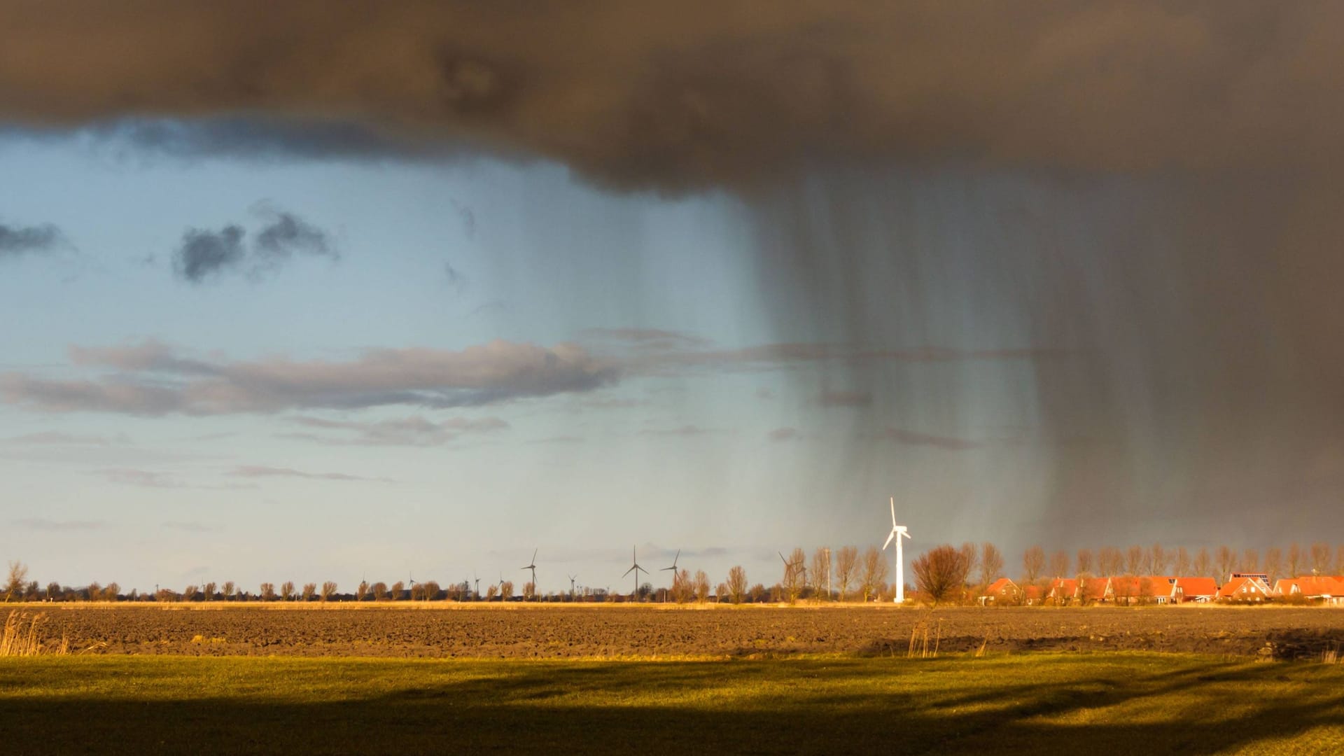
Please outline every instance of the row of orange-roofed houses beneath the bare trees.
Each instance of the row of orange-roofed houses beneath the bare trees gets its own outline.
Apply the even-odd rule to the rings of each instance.
[[[1184,604],[1189,601],[1266,601],[1301,597],[1344,605],[1344,577],[1285,577],[1270,585],[1262,572],[1234,572],[1219,585],[1212,577],[1056,577],[1044,585],[1019,587],[1007,577],[989,584],[981,604]]]

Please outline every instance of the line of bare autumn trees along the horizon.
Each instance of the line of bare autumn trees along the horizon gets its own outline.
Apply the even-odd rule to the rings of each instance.
[[[802,547],[794,547],[788,557],[782,553],[781,577],[773,585],[751,584],[746,569],[735,565],[726,580],[711,587],[704,570],[681,568],[672,576],[669,587],[655,588],[644,582],[633,595],[607,592],[601,588],[582,588],[573,592],[539,595],[532,582],[524,582],[515,593],[512,581],[500,580],[482,589],[473,589],[469,581],[449,584],[435,581],[368,582],[360,581],[352,593],[340,593],[335,581],[321,584],[293,581],[262,582],[255,592],[245,591],[233,581],[191,584],[181,591],[157,588],[152,593],[130,591],[125,595],[116,582],[71,588],[56,582],[42,588],[28,578],[28,568],[9,562],[4,584],[5,601],[720,601],[720,603],[794,603],[801,599],[828,601],[872,601],[894,596],[888,584],[891,557],[876,546],[862,554],[856,546],[817,547],[808,558]],[[1288,549],[1269,547],[1236,550],[1219,546],[1200,547],[1191,553],[1184,546],[1167,547],[1160,542],[1150,546],[1132,545],[1128,549],[1103,546],[1078,549],[1074,553],[1055,550],[1050,554],[1031,546],[1021,556],[1020,582],[1044,587],[1056,577],[1090,578],[1118,576],[1177,576],[1211,577],[1219,582],[1234,572],[1265,573],[1270,582],[1279,577],[1304,574],[1344,574],[1344,543],[1331,547],[1327,542],[1310,546],[1289,545]],[[913,585],[907,592],[922,593],[935,601],[970,599],[977,591],[1005,577],[1003,552],[992,542],[935,546],[911,562]]]

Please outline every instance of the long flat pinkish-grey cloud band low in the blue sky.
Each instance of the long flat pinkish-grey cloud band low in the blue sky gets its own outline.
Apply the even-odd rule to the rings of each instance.
[[[192,359],[146,342],[77,347],[71,361],[103,374],[67,381],[0,374],[0,398],[47,412],[204,416],[384,405],[480,406],[589,391],[616,379],[612,366],[577,346],[501,340],[461,351],[370,350],[349,362]]]

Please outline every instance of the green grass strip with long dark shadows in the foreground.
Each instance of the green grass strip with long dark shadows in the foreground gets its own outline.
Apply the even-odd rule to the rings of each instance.
[[[1340,753],[1344,666],[0,658],[0,752]]]

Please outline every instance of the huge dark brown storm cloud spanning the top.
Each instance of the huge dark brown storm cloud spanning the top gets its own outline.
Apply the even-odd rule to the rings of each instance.
[[[818,160],[1325,174],[1344,156],[1333,4],[62,7],[0,11],[0,120],[180,153],[487,149],[671,190]]]

